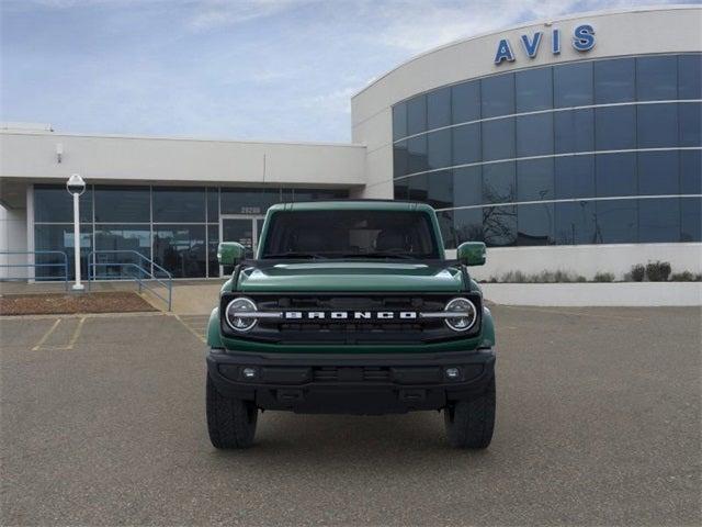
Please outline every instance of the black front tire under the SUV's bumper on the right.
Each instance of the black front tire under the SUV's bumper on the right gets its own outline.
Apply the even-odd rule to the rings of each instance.
[[[449,442],[455,448],[487,448],[495,428],[495,378],[479,395],[443,408]]]

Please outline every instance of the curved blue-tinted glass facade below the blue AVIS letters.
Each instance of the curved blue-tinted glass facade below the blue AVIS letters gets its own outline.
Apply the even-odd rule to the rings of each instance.
[[[524,69],[393,106],[395,199],[446,247],[702,240],[702,54]]]

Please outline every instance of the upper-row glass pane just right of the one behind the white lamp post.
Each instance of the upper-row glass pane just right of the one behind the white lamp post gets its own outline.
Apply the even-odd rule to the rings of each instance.
[[[95,186],[95,222],[150,222],[150,201],[148,187]]]

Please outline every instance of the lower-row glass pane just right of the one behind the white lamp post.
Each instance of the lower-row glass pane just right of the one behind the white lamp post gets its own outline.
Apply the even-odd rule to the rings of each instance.
[[[132,279],[144,268],[146,273],[150,269],[145,267],[143,258],[151,259],[151,231],[145,225],[98,225],[95,227],[95,250],[110,253],[97,253],[95,267],[100,277],[109,279]],[[114,253],[116,251],[116,253]],[[124,265],[133,264],[133,266]],[[144,272],[141,273],[145,274]]]

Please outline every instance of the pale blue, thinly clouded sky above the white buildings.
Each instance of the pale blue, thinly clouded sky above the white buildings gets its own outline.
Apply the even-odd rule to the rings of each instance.
[[[534,19],[650,2],[0,3],[0,121],[77,133],[348,142],[350,96],[418,53]]]

